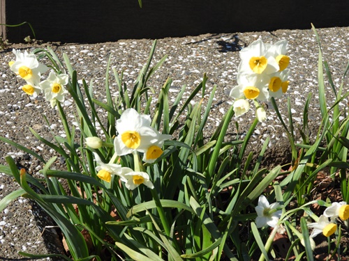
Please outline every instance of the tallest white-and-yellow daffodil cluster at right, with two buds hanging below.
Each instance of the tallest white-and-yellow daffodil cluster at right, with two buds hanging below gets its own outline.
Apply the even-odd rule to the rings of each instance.
[[[260,122],[266,120],[265,109],[259,102],[267,102],[271,97],[279,98],[288,90],[290,57],[286,55],[288,42],[280,40],[274,45],[265,44],[258,39],[239,52],[241,62],[237,74],[237,86],[230,90],[235,98],[235,116],[248,111],[243,100],[253,100]],[[243,105],[243,106],[242,106]]]

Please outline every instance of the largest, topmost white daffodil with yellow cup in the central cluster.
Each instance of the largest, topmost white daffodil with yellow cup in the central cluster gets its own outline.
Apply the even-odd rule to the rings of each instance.
[[[135,150],[145,152],[151,145],[171,138],[170,135],[159,134],[150,124],[150,116],[141,115],[135,109],[126,109],[117,120],[118,136],[114,139],[117,155],[126,155]]]

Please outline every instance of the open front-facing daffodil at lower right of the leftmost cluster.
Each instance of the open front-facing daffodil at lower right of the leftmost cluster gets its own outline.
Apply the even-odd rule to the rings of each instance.
[[[59,100],[59,102],[64,102],[64,97],[68,93],[64,88],[66,84],[68,84],[67,74],[50,72],[47,79],[41,81],[39,86],[43,89],[47,101]]]

